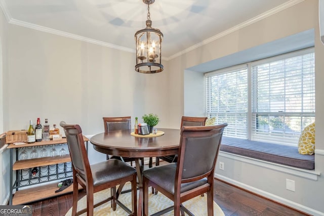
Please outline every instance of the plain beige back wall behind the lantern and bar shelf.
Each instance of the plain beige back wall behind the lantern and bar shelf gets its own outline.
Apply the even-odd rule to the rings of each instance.
[[[103,116],[134,121],[148,112],[167,126],[168,68],[140,74],[132,53],[17,25],[9,25],[9,34],[6,129],[26,129],[40,117],[78,123],[92,135],[103,132]]]

